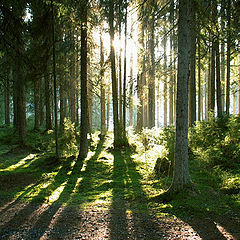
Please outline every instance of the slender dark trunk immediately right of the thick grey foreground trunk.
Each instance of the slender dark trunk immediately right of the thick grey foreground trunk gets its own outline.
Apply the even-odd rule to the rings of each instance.
[[[196,17],[195,6],[193,1],[190,1],[190,56],[189,56],[189,126],[192,126],[196,121]]]

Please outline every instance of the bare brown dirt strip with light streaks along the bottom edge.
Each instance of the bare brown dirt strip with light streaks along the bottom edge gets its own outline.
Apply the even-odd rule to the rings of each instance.
[[[114,209],[1,199],[0,239],[240,239],[234,216],[177,219]]]

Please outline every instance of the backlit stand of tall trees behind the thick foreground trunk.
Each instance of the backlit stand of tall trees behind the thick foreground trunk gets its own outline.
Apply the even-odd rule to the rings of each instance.
[[[81,128],[83,158],[87,134],[94,130],[102,135],[114,130],[119,147],[128,126],[140,132],[175,125],[177,2],[52,3],[54,41],[48,1],[0,4],[0,121],[14,125],[21,145],[27,126],[49,131],[59,122],[64,130],[65,118]],[[189,94],[192,126],[196,116],[207,119],[209,111],[219,117],[239,114],[239,3],[192,0],[190,9],[189,66],[184,61],[189,91],[184,94]]]

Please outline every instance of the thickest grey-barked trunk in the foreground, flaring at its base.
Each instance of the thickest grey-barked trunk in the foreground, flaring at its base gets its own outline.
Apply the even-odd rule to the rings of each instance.
[[[188,165],[188,21],[189,1],[179,0],[176,144],[171,192],[182,191],[191,185]]]

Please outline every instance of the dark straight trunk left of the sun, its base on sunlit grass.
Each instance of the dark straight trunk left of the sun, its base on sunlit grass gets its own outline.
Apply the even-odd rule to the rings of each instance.
[[[87,93],[87,10],[88,0],[81,2],[81,125],[79,160],[83,160],[88,152],[88,93]]]

